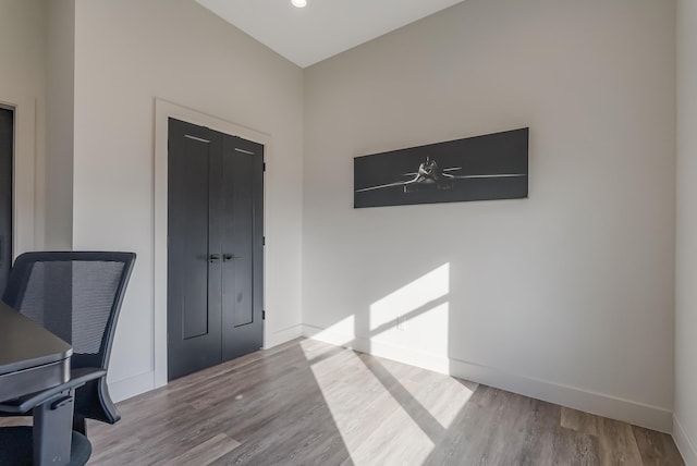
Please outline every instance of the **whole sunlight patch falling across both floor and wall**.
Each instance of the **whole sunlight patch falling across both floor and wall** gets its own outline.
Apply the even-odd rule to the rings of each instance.
[[[360,336],[432,355],[447,365],[449,293],[450,263],[444,263],[370,305],[368,334]],[[348,316],[314,338],[355,339],[356,323]],[[356,465],[423,463],[448,437],[476,389],[442,373],[310,340],[301,347]]]

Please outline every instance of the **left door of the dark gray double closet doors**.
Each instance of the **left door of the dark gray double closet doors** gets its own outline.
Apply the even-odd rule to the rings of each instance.
[[[222,139],[170,119],[168,168],[168,368],[174,379],[221,361],[219,233],[211,192]],[[211,228],[212,226],[212,228]]]

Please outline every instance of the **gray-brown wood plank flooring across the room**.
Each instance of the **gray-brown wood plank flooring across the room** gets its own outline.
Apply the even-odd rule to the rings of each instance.
[[[670,436],[310,340],[119,404],[90,465],[682,465]]]

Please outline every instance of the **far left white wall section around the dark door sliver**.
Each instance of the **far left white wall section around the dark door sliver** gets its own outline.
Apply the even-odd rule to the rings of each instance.
[[[35,167],[42,164],[45,149],[45,13],[44,0],[0,1],[0,105],[15,109],[15,255],[34,249],[42,237],[35,235],[35,224],[42,224],[42,187],[35,184]]]

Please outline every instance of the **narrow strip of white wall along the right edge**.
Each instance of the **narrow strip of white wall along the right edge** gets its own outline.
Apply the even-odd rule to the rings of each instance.
[[[673,437],[697,465],[697,2],[677,1],[677,242]]]

